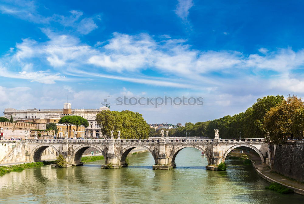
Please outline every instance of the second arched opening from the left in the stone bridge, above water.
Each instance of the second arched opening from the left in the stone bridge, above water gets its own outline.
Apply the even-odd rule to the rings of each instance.
[[[104,152],[95,145],[82,145],[75,149],[74,156],[72,157],[72,161],[74,164],[80,164],[81,163],[81,157],[83,155],[90,155],[90,156],[96,156],[96,155],[104,155]]]

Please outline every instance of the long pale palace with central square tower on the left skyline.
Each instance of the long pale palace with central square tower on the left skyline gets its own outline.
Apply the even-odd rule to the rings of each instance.
[[[46,119],[56,123],[63,116],[81,116],[88,120],[89,126],[85,129],[85,137],[101,137],[101,127],[96,122],[96,115],[103,110],[110,110],[108,107],[99,109],[71,109],[71,103],[64,103],[63,109],[26,109],[16,110],[13,108],[4,109],[4,117],[13,116],[14,121],[32,121],[33,119]],[[58,123],[58,122],[57,122]]]

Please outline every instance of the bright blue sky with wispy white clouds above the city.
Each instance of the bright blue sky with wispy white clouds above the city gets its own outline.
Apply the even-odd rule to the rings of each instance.
[[[302,1],[1,1],[0,109],[99,108],[185,123],[304,92]],[[203,97],[203,105],[115,98]]]

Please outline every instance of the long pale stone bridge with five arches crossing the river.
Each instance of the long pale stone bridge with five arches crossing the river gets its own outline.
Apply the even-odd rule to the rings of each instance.
[[[175,167],[176,155],[186,147],[196,148],[206,155],[208,165],[218,165],[226,160],[228,153],[237,147],[249,147],[259,154],[262,164],[268,159],[268,144],[264,138],[253,139],[177,139],[149,138],[146,140],[93,139],[93,140],[26,140],[27,161],[41,161],[41,155],[47,148],[53,148],[62,154],[68,163],[81,165],[81,157],[86,149],[94,147],[105,158],[105,164],[114,168],[126,166],[126,156],[136,147],[149,151],[155,160],[154,169]],[[105,167],[106,165],[103,165]],[[159,168],[158,168],[159,167]]]

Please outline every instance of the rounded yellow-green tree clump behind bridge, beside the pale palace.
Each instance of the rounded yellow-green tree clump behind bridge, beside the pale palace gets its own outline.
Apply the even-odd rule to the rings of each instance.
[[[96,115],[96,121],[102,127],[102,134],[110,136],[111,130],[114,130],[114,138],[118,136],[120,130],[121,139],[144,139],[148,138],[150,127],[138,112],[109,111],[105,110]]]

